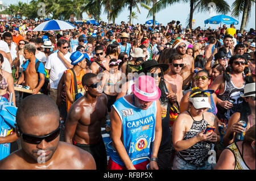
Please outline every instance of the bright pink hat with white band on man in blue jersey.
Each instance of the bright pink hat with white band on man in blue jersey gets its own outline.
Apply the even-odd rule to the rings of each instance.
[[[155,85],[155,79],[147,75],[137,78],[131,90],[137,98],[147,102],[157,100],[161,96],[160,89]]]

